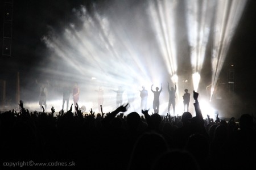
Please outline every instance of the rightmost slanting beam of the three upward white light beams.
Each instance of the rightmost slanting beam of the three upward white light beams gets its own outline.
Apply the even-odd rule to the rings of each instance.
[[[245,1],[217,1],[214,24],[214,45],[212,50],[212,87],[216,87],[223,63],[228,53],[230,41],[241,18]],[[212,97],[213,94],[211,94]]]

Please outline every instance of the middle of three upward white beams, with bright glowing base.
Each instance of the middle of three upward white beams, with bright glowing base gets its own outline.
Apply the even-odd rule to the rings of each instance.
[[[188,40],[191,46],[193,86],[194,90],[197,91],[209,39],[210,22],[213,19],[214,1],[187,0],[185,2]]]

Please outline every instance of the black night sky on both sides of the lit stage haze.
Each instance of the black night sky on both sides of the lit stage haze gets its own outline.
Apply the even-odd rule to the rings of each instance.
[[[71,10],[80,4],[89,6],[91,1],[14,1],[13,38],[11,57],[1,56],[0,79],[12,77],[20,71],[21,78],[28,77],[36,66],[47,62],[47,48],[41,41],[51,25],[61,31],[61,25],[73,18]],[[1,1],[1,54],[3,33],[3,2]],[[226,75],[228,66],[233,63],[236,71],[236,93],[241,99],[256,104],[256,1],[247,3],[245,12],[233,37],[232,44],[222,75]],[[10,76],[11,75],[11,76]],[[24,83],[26,84],[26,83]]]

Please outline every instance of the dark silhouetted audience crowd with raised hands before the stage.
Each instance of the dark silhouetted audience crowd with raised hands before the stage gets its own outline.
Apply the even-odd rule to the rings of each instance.
[[[43,107],[43,112],[30,112],[20,101],[19,112],[0,114],[1,166],[33,160],[73,161],[75,168],[84,169],[255,169],[253,117],[242,114],[239,124],[233,117],[228,122],[204,120],[198,97],[194,91],[195,117],[148,110],[125,116],[129,104],[111,113],[91,109],[88,114],[77,104],[72,112],[72,104],[54,117],[53,107],[51,113]]]

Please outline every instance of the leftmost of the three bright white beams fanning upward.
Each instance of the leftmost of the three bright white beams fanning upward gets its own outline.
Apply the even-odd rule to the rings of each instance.
[[[164,0],[150,1],[148,8],[152,28],[154,28],[156,40],[170,76],[176,74],[177,71],[174,23],[176,6],[176,1]]]

